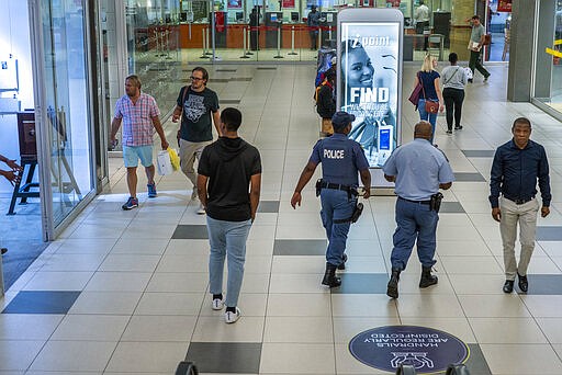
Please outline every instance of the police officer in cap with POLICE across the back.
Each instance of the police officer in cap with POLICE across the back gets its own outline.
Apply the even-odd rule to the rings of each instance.
[[[316,192],[319,192],[322,224],[328,237],[326,273],[322,284],[329,287],[341,285],[341,280],[336,277],[336,269],[345,269],[347,260],[344,252],[351,219],[357,209],[358,171],[363,183],[363,197],[371,195],[371,173],[364,151],[361,145],[348,138],[355,120],[347,112],[334,114],[334,135],[316,143],[291,198],[293,208],[301,205],[301,191],[322,162],[323,178],[316,183]]]

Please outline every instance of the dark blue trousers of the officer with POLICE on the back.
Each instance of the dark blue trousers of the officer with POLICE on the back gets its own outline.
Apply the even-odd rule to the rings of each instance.
[[[323,189],[321,202],[322,225],[326,229],[326,237],[328,238],[326,261],[330,264],[339,265],[344,262],[347,234],[351,226],[351,221],[346,219],[351,217],[357,198],[355,196],[349,198],[348,193],[341,190]],[[338,220],[346,221],[338,223]]]

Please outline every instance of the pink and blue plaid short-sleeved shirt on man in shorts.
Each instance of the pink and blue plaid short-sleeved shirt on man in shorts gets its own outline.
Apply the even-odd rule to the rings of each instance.
[[[123,120],[123,146],[147,146],[153,144],[153,117],[159,116],[160,110],[153,96],[140,93],[133,104],[123,95],[115,104],[115,118]]]

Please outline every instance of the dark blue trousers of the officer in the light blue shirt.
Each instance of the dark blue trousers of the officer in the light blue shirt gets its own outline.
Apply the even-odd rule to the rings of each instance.
[[[396,200],[396,225],[391,263],[393,269],[405,270],[412,248],[417,239],[417,257],[423,266],[431,266],[436,248],[439,215],[428,204]]]

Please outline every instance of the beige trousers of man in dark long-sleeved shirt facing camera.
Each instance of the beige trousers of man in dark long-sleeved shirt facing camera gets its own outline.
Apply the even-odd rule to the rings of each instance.
[[[536,198],[532,198],[525,204],[517,205],[515,202],[501,196],[499,209],[502,211],[499,232],[504,245],[505,279],[515,280],[517,273],[521,276],[527,275],[527,268],[531,260],[532,250],[535,250],[539,203]],[[515,259],[517,224],[519,224],[519,242],[521,243],[519,264]]]

